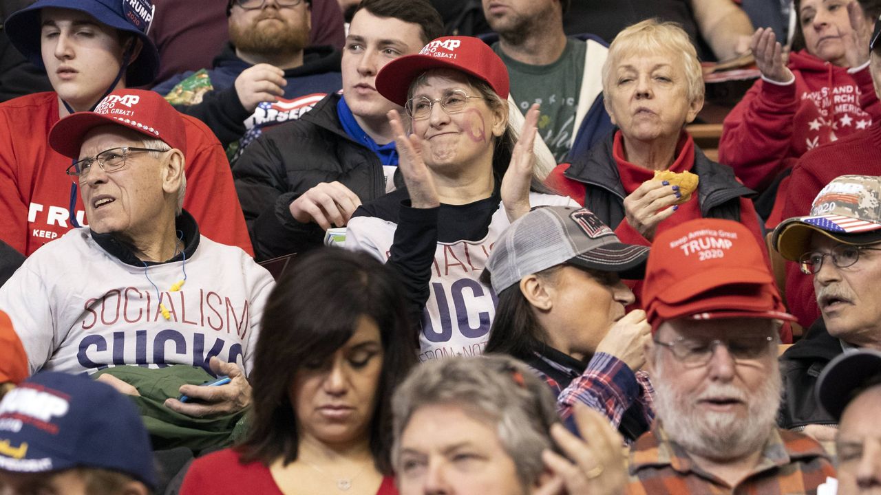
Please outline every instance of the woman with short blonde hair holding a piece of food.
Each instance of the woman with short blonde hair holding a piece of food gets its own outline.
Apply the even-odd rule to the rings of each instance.
[[[764,242],[753,191],[728,166],[707,159],[685,131],[703,107],[704,86],[681,27],[648,19],[618,33],[603,65],[603,98],[618,130],[571,166],[554,169],[549,183],[627,244],[648,246],[657,233],[694,218],[742,222]],[[688,195],[655,180],[665,170],[697,175],[697,189]]]

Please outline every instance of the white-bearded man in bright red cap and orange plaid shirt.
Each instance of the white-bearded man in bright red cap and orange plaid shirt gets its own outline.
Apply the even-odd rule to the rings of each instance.
[[[700,218],[655,238],[643,300],[656,420],[630,454],[627,493],[813,493],[835,470],[775,425],[782,311],[750,231]]]

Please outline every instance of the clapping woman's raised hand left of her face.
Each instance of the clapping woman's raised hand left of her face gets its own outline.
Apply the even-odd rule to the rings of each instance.
[[[395,133],[395,146],[397,148],[397,167],[401,170],[403,182],[407,185],[410,193],[410,203],[413,208],[436,208],[441,205],[437,188],[434,187],[434,178],[431,170],[428,170],[426,162],[422,160],[422,139],[415,134],[407,135],[403,130],[401,115],[397,110],[389,110],[389,125]]]

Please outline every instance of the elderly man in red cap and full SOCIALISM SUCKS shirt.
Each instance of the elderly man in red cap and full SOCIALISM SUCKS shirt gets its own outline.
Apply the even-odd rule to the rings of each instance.
[[[181,115],[155,92],[117,90],[93,112],[62,119],[48,141],[74,160],[67,174],[89,225],[38,249],[0,287],[30,372],[109,368],[99,380],[150,395],[152,410],[178,419],[239,413],[273,280],[241,248],[201,235],[181,209]],[[192,385],[211,375],[230,380]]]

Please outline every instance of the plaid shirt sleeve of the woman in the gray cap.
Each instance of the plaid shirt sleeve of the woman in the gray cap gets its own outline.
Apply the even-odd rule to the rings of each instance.
[[[654,395],[655,389],[647,373],[633,373],[624,361],[611,354],[597,352],[584,373],[559,392],[557,408],[560,417],[565,420],[572,415],[574,403],[584,403],[605,414],[611,424],[618,428],[624,411],[633,403],[638,403],[648,425],[655,418]]]

